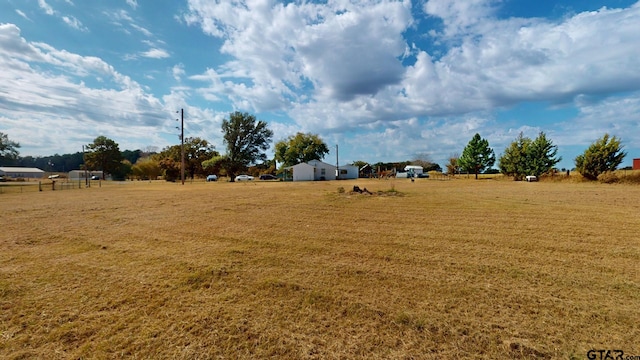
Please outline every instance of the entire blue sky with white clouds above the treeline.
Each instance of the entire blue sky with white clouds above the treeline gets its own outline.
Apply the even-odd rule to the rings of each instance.
[[[443,168],[544,132],[558,167],[605,133],[640,157],[640,2],[0,0],[0,132],[22,156],[200,137],[234,111],[325,161]],[[271,156],[272,150],[268,151]],[[497,167],[497,164],[496,164]]]

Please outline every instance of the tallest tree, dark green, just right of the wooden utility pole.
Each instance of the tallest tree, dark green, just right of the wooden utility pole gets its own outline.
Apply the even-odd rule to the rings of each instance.
[[[251,164],[265,161],[264,153],[269,148],[273,131],[267,123],[256,120],[256,117],[239,111],[229,115],[222,121],[222,133],[227,153],[218,164],[227,172],[231,181],[235,175],[244,171]]]

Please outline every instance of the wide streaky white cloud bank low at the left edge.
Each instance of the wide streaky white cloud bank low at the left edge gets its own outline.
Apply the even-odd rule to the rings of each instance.
[[[0,122],[25,147],[76,152],[98,135],[127,138],[123,148],[159,143],[164,105],[97,57],[29,43],[12,24],[0,24]],[[46,71],[42,71],[46,69]],[[84,79],[102,78],[99,88]],[[28,126],[25,126],[28,124]],[[75,136],[73,129],[84,135]],[[92,131],[86,131],[92,129]]]

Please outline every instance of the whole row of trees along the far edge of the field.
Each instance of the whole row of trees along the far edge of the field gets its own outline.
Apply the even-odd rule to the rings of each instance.
[[[233,181],[235,175],[241,172],[253,175],[275,173],[276,162],[282,170],[301,162],[321,160],[329,153],[328,146],[318,135],[297,133],[277,142],[274,159],[267,159],[265,151],[269,148],[273,131],[266,122],[248,113],[231,113],[228,119],[223,120],[221,131],[226,148],[223,154],[216,151],[207,140],[198,137],[186,138],[184,145],[168,146],[161,151],[151,147],[146,151],[120,151],[115,141],[98,136],[86,145],[85,152],[48,157],[20,157],[20,144],[0,132],[0,165],[37,167],[50,172],[101,170],[103,176],[109,174],[116,180],[131,177],[147,180],[162,176],[167,181],[175,181],[181,177],[184,146],[186,177],[194,179],[215,173],[227,175]],[[499,170],[495,170],[492,169],[496,163],[495,152],[486,139],[475,134],[461,155],[455,154],[449,158],[446,172],[475,174],[477,179],[478,174],[495,170],[514,180],[522,180],[528,175],[539,177],[555,171],[555,166],[562,160],[557,153],[558,147],[544,132],[540,132],[535,139],[520,133],[497,159]],[[580,174],[595,180],[603,173],[616,170],[625,156],[621,140],[605,134],[574,161]],[[369,164],[355,161],[352,165],[362,168]],[[442,171],[440,165],[431,162],[427,154],[416,154],[413,160],[405,162],[378,162],[370,166],[370,171],[404,169],[407,165],[420,165],[425,171]]]

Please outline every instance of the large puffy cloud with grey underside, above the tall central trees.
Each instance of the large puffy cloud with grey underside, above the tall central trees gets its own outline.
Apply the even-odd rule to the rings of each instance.
[[[225,39],[221,51],[237,61],[221,67],[229,97],[239,107],[274,110],[314,92],[327,99],[372,95],[402,78],[411,23],[410,2],[318,5],[229,1],[189,2],[187,23]]]

